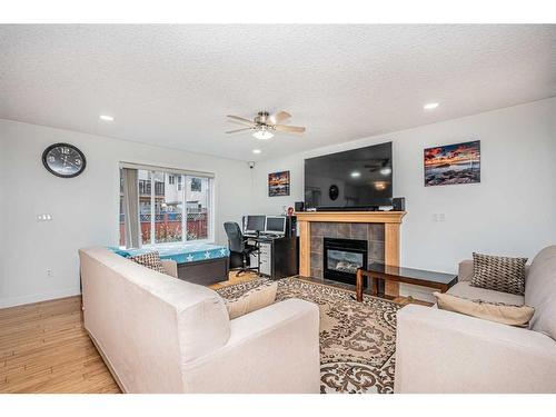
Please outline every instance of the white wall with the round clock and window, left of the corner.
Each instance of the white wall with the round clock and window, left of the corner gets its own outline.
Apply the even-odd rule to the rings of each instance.
[[[61,179],[42,166],[54,142],[79,147],[87,169]],[[79,294],[78,248],[118,244],[120,161],[216,173],[216,240],[250,201],[246,162],[0,120],[0,307]],[[38,214],[52,221],[38,222]],[[47,269],[53,277],[47,278]]]

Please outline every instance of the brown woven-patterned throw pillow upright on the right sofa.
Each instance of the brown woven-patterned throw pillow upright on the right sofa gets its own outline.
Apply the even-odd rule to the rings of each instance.
[[[525,264],[527,258],[509,258],[473,254],[471,286],[495,291],[525,292]]]

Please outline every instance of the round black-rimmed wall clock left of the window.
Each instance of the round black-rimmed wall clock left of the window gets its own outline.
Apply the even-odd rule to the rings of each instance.
[[[73,178],[85,170],[87,161],[83,152],[73,145],[54,143],[42,152],[42,163],[57,177]]]

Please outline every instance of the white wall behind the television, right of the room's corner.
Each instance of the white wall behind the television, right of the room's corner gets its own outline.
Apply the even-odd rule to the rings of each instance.
[[[424,186],[423,150],[480,140],[481,182]],[[302,140],[302,139],[299,139]],[[254,211],[304,199],[304,159],[393,141],[394,195],[406,197],[401,264],[453,272],[473,251],[533,257],[556,244],[556,98],[257,163]],[[291,196],[268,197],[268,172],[290,170]],[[433,214],[445,214],[444,222]]]

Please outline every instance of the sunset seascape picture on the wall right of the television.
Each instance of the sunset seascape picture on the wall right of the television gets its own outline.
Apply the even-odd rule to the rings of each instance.
[[[425,149],[425,187],[480,182],[480,140]]]

